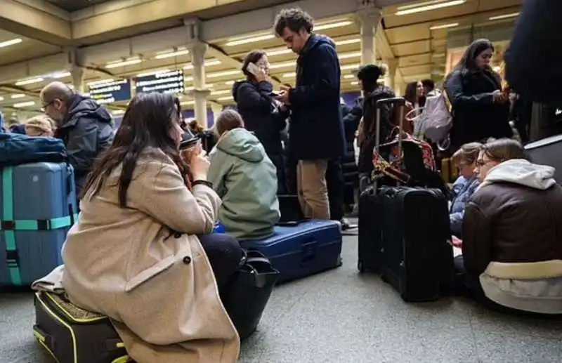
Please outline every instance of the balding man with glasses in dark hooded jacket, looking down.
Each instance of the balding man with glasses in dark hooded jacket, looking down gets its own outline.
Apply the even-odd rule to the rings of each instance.
[[[45,86],[39,98],[45,114],[57,124],[55,137],[67,147],[79,195],[94,160],[113,141],[111,115],[95,100],[75,93],[61,82]]]

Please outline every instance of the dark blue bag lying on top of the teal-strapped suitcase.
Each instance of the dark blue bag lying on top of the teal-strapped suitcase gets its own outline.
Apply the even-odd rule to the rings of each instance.
[[[66,161],[67,152],[63,140],[18,133],[0,134],[0,167]]]

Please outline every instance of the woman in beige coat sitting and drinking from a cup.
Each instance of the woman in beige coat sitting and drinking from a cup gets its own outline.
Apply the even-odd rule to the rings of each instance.
[[[182,156],[181,136],[171,95],[131,100],[84,188],[63,286],[72,303],[115,321],[138,363],[234,363],[240,339],[219,289],[242,251],[209,234],[221,200],[209,161],[200,150]]]

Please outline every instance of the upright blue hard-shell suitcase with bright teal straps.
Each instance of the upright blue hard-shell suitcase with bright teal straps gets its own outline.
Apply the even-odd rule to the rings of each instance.
[[[1,169],[0,286],[29,286],[63,263],[61,248],[77,219],[68,164]]]

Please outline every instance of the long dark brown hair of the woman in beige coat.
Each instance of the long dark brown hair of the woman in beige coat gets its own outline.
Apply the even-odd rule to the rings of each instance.
[[[166,93],[141,93],[131,100],[112,145],[96,161],[82,197],[91,189],[91,197],[98,194],[112,171],[122,165],[117,185],[119,206],[126,208],[126,195],[133,172],[138,158],[147,147],[156,147],[171,157],[180,169],[185,185],[191,185],[189,166],[181,158],[176,140],[170,135],[179,122],[175,102],[174,96]]]

